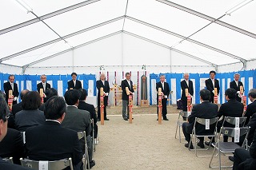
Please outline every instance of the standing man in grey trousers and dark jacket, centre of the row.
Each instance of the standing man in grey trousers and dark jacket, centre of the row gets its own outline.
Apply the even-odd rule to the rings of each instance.
[[[133,81],[130,80],[130,73],[126,73],[126,79],[121,82],[122,87],[122,118],[125,121],[129,119],[129,96],[134,94]],[[130,94],[127,95],[126,87],[128,87]],[[127,111],[127,113],[126,113]],[[133,118],[134,119],[134,118]]]

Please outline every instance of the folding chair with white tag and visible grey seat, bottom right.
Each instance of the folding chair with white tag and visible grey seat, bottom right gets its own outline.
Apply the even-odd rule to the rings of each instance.
[[[222,127],[219,134],[218,134],[218,141],[216,143],[213,143],[212,145],[214,146],[214,152],[213,155],[210,158],[210,163],[209,163],[209,168],[231,168],[232,166],[222,166],[222,161],[221,161],[221,153],[234,153],[234,150],[237,148],[244,148],[246,144],[246,140],[243,141],[242,147],[239,146],[238,144],[234,142],[239,142],[240,136],[246,135],[246,138],[248,136],[248,132],[250,130],[250,127],[242,127],[242,128],[227,128],[227,127]],[[221,135],[226,135],[230,137],[234,137],[234,142],[222,142],[220,140]],[[237,139],[236,139],[237,138]],[[215,151],[218,150],[218,165],[216,167],[212,167],[211,163],[214,157]]]

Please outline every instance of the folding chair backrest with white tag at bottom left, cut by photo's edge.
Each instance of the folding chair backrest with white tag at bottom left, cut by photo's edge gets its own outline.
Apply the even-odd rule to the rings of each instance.
[[[70,170],[74,170],[72,159],[64,159],[64,160],[54,160],[54,161],[47,161],[47,160],[29,160],[29,159],[20,159],[22,167],[31,168],[34,170],[61,170],[67,167],[70,167]]]

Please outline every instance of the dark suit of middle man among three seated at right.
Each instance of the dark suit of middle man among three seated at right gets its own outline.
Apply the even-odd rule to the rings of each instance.
[[[243,113],[243,105],[241,102],[236,101],[235,99],[231,99],[226,103],[223,103],[218,110],[218,117],[242,117]],[[218,121],[218,131],[222,127],[222,121]],[[225,122],[224,127],[233,127],[234,125],[230,125]],[[223,136],[224,142],[227,142],[228,136]]]

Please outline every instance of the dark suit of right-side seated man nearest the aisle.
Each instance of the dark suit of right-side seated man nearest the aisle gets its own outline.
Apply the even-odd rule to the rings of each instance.
[[[218,115],[218,105],[210,103],[210,101],[204,101],[201,104],[194,105],[190,117],[188,117],[189,123],[185,122],[182,124],[182,131],[186,138],[186,141],[190,141],[190,134],[192,133],[194,127],[195,117],[211,119],[217,117]],[[206,130],[205,126],[197,125],[196,133],[202,134],[204,132],[213,132],[214,128],[210,126],[210,130]],[[200,140],[203,140],[200,139]]]

